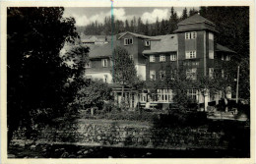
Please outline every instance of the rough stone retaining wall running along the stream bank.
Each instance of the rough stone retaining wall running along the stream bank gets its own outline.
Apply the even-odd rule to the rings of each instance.
[[[146,124],[113,121],[78,121],[34,127],[30,139],[53,144],[125,146],[149,148],[225,148],[224,134],[202,128],[157,128]],[[14,134],[13,141],[25,140],[26,130]]]

